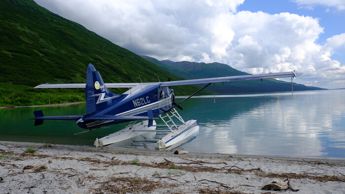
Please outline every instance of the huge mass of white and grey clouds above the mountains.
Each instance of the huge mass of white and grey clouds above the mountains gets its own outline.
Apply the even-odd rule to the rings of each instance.
[[[139,55],[219,62],[249,73],[298,70],[304,72],[298,83],[345,88],[339,82],[345,80],[345,67],[331,59],[345,35],[316,43],[323,33],[316,18],[237,12],[244,0],[36,1]]]

